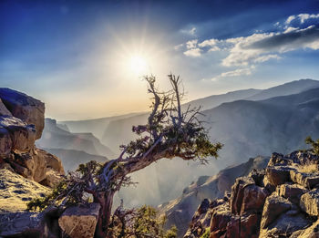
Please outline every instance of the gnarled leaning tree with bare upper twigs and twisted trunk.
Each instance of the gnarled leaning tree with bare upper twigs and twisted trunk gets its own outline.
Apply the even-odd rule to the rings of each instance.
[[[200,109],[182,110],[180,103],[184,92],[180,91],[180,77],[169,75],[171,90],[163,92],[155,85],[155,77],[145,77],[152,96],[151,112],[146,125],[133,127],[137,139],[121,146],[121,154],[103,165],[89,162],[70,173],[64,181],[64,189],[47,202],[66,204],[85,202],[91,194],[101,206],[96,237],[108,237],[108,226],[114,194],[131,183],[129,174],[161,159],[180,157],[182,160],[200,160],[218,157],[221,143],[212,143],[204,129]]]

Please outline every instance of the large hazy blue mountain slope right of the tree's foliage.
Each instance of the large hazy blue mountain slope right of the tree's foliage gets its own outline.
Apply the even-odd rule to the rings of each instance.
[[[287,153],[304,147],[310,135],[319,138],[319,88],[261,101],[239,100],[202,112],[211,140],[224,143],[222,168],[272,151]]]

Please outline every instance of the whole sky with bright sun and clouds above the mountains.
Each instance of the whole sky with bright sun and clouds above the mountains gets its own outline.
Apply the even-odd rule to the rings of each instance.
[[[319,79],[318,27],[317,0],[1,1],[0,87],[92,119],[147,110],[140,74],[180,74],[188,100]]]

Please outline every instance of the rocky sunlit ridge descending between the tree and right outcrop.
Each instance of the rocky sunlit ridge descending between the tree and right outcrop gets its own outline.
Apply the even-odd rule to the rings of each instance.
[[[186,233],[191,218],[201,204],[201,201],[222,198],[225,191],[232,190],[232,183],[242,176],[247,176],[252,170],[262,170],[267,166],[269,157],[256,157],[242,164],[228,167],[214,176],[201,176],[185,188],[181,196],[159,206],[160,212],[167,216],[166,226],[175,224],[179,237]]]

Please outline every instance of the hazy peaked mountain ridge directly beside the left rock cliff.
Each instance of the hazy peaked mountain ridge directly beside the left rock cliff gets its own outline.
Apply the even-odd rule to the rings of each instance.
[[[36,141],[40,148],[80,150],[89,154],[113,157],[114,153],[103,145],[92,133],[71,133],[60,129],[57,120],[46,119],[43,136]]]

